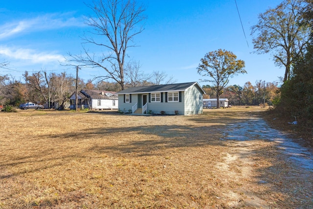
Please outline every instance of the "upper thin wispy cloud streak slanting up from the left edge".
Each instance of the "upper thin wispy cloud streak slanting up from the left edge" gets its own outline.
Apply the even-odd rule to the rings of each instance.
[[[32,31],[51,30],[62,27],[82,27],[83,20],[71,17],[71,13],[45,14],[32,19],[24,19],[0,25],[0,39]]]

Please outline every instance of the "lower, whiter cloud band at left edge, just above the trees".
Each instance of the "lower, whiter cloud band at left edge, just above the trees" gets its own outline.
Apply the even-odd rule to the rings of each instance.
[[[46,64],[51,62],[63,62],[64,57],[57,52],[37,52],[33,49],[10,48],[0,46],[1,56],[7,57],[8,60],[23,60],[32,64]]]

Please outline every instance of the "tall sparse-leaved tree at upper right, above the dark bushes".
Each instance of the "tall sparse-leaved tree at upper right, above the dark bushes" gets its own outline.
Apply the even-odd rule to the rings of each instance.
[[[290,79],[293,58],[303,53],[308,43],[310,28],[301,14],[304,7],[304,0],[284,0],[260,14],[251,28],[256,52],[271,52],[275,64],[285,67],[284,82]]]

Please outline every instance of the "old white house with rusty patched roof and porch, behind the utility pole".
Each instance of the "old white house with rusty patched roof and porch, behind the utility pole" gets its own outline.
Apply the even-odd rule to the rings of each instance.
[[[76,109],[76,93],[70,96],[70,109]],[[77,108],[90,110],[118,109],[118,98],[115,92],[84,89],[78,92]]]

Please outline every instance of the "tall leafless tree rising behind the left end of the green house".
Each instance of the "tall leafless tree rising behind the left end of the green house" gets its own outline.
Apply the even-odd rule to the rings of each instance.
[[[67,61],[79,63],[80,67],[102,68],[107,75],[100,77],[113,79],[124,90],[126,50],[135,46],[131,43],[134,36],[143,31],[139,24],[145,19],[145,10],[134,0],[97,0],[88,7],[93,11],[93,15],[86,18],[86,24],[93,28],[91,34],[105,39],[84,37],[84,44],[100,46],[107,51],[98,56],[83,45],[84,52],[80,55],[69,53],[71,58]]]

